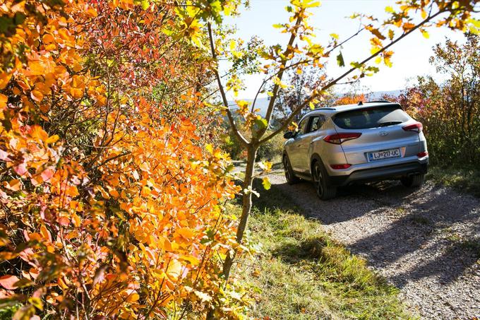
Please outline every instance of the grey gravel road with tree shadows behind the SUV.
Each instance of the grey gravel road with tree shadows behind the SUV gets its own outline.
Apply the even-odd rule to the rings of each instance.
[[[400,288],[423,319],[480,318],[480,199],[427,182],[361,184],[320,201],[310,182],[272,184]]]

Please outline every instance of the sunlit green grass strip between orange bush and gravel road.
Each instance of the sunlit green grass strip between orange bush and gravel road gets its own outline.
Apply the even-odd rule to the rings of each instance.
[[[260,187],[256,188],[260,190]],[[232,205],[232,210],[239,211]],[[409,319],[398,290],[272,189],[254,202],[250,242],[262,249],[234,274],[252,287],[259,319]]]

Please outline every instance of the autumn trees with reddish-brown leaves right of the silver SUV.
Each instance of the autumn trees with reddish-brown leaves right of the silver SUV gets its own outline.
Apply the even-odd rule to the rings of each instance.
[[[446,40],[434,47],[431,64],[446,81],[419,76],[399,102],[424,124],[434,162],[475,167],[480,163],[480,46],[478,35],[465,38],[464,45]]]

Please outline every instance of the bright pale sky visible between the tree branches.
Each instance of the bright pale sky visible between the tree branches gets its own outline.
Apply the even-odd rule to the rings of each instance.
[[[226,22],[236,25],[237,37],[244,40],[257,35],[265,41],[265,45],[284,45],[288,41],[288,35],[280,33],[279,29],[272,27],[275,23],[288,21],[288,13],[285,6],[287,0],[251,0],[250,8],[243,9],[241,16],[229,18]],[[323,0],[319,8],[312,8],[313,16],[310,18],[311,25],[316,28],[317,39],[328,40],[330,33],[335,32],[340,36],[340,41],[353,35],[359,29],[359,21],[347,18],[352,13],[368,13],[377,18],[385,18],[385,6],[394,6],[395,1],[390,0]],[[461,32],[453,32],[447,28],[431,28],[428,30],[430,37],[426,39],[418,30],[412,32],[403,40],[392,47],[395,54],[392,57],[393,66],[380,65],[380,72],[372,77],[365,77],[361,81],[361,87],[366,91],[390,91],[405,88],[408,82],[412,83],[416,76],[432,75],[438,81],[443,76],[436,74],[435,67],[429,64],[428,59],[433,55],[432,47],[438,42],[445,42],[445,37],[458,42],[464,42]],[[340,69],[336,63],[328,64],[328,76],[334,77],[347,70],[349,62],[361,61],[368,57],[371,49],[369,39],[370,32],[361,32],[358,37],[342,47],[342,55],[345,68]],[[325,43],[325,42],[323,42]],[[335,57],[337,54],[334,54]],[[244,78],[246,90],[239,93],[240,99],[251,99],[255,96],[263,76],[246,76]],[[338,93],[349,90],[346,85],[338,85],[335,90]],[[265,95],[264,95],[265,96]],[[229,95],[233,100],[233,95]]]

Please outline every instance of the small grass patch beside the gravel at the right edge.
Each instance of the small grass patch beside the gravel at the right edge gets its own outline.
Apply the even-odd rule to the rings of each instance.
[[[480,198],[480,171],[478,169],[452,169],[429,167],[427,179],[445,186],[452,186]]]

